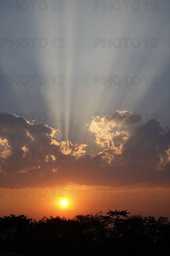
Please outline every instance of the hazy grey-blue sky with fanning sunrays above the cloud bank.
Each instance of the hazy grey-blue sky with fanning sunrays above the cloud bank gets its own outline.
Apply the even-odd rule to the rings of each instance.
[[[46,38],[45,48],[1,48],[3,75],[46,75],[46,85],[30,83],[1,86],[1,111],[46,113],[47,123],[60,128],[64,139],[85,140],[86,123],[94,112],[108,115],[115,110],[157,113],[168,126],[169,117],[169,1],[157,1],[157,11],[124,11],[97,8],[93,1],[65,1],[65,11],[10,11],[1,13],[1,38]],[[52,48],[53,38],[63,38],[65,48]],[[138,38],[141,46],[93,47],[94,38]],[[146,48],[143,40],[157,39],[157,48]],[[122,40],[123,42],[123,40]],[[131,40],[129,41],[131,42]],[[58,43],[58,42],[57,42]],[[65,85],[52,85],[50,77],[63,75]],[[93,84],[94,75],[138,75],[139,85]],[[158,85],[146,85],[143,77],[156,75]],[[65,124],[52,123],[52,113],[64,113]]]

